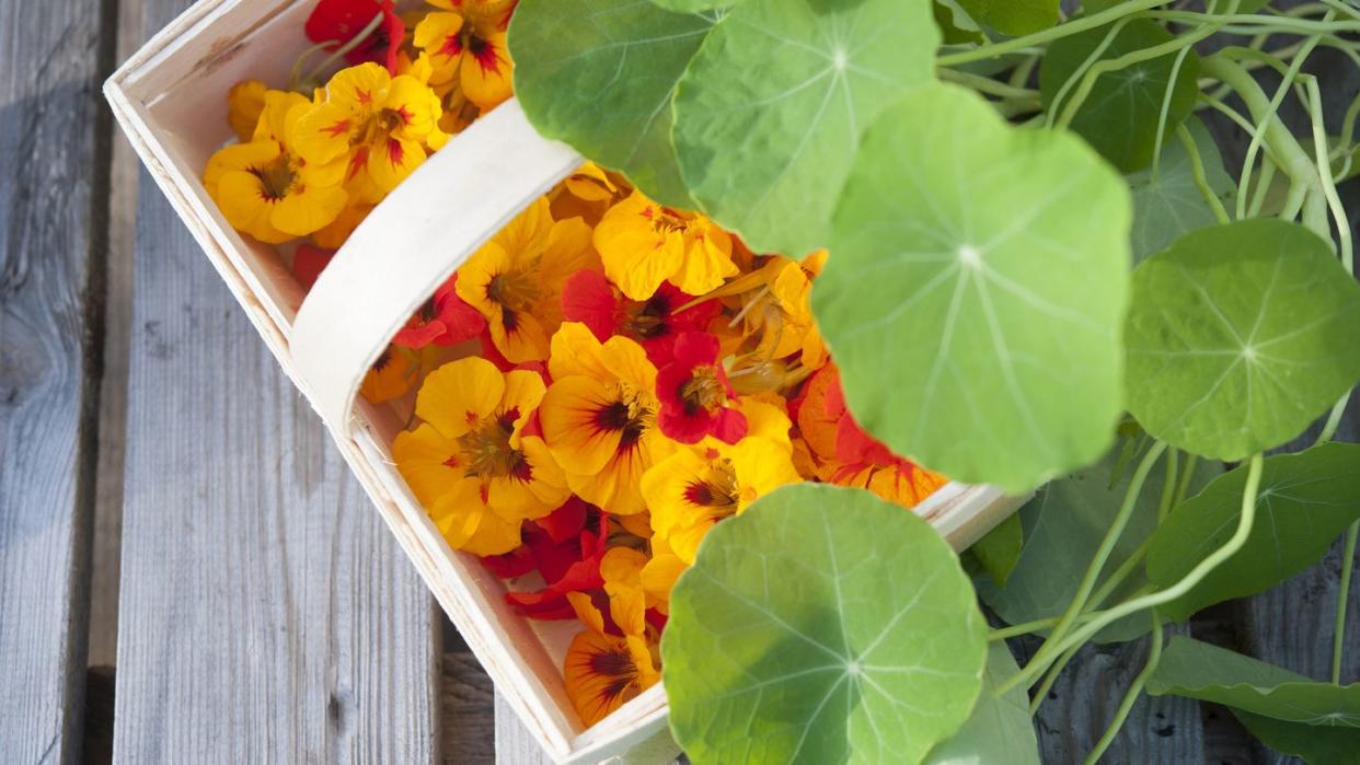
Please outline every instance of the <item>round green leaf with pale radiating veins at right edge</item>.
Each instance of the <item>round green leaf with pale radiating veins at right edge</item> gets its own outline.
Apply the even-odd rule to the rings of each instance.
[[[1277,219],[1186,234],[1138,265],[1129,410],[1149,433],[1242,459],[1299,435],[1360,378],[1360,285]]]

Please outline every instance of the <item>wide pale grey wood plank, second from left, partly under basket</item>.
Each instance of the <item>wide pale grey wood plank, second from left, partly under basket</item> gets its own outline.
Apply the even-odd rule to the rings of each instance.
[[[114,760],[432,761],[428,592],[167,202],[139,208]]]

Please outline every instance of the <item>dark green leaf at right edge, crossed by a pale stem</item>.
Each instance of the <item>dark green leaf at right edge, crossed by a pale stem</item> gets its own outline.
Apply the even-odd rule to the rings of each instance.
[[[1152,535],[1148,580],[1171,587],[1232,537],[1246,481],[1247,466],[1238,467],[1175,508]],[[1321,560],[1357,519],[1360,444],[1327,443],[1268,457],[1246,545],[1160,609],[1180,621],[1205,606],[1269,590]]]

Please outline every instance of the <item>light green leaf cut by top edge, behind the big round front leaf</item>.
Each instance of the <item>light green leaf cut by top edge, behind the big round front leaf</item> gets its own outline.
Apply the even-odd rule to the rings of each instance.
[[[824,247],[860,133],[934,76],[930,0],[744,0],[675,101],[680,170],[755,251]]]

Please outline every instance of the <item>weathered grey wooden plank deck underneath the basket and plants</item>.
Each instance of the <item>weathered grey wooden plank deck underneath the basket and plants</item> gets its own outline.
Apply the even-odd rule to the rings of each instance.
[[[536,762],[114,135],[99,84],[188,4],[0,0],[0,761]],[[1185,629],[1325,677],[1340,565]],[[1356,679],[1360,617],[1348,636]],[[1080,761],[1144,652],[1073,662],[1039,715],[1047,761]],[[1280,758],[1160,698],[1107,761]]]

